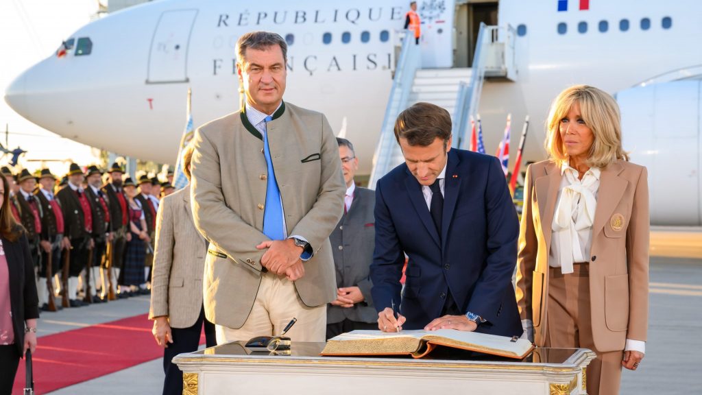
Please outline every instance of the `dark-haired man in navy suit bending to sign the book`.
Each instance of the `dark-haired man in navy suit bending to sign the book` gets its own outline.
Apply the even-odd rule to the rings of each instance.
[[[378,329],[522,335],[512,286],[519,222],[497,158],[451,149],[451,116],[430,103],[404,110],[395,138],[405,163],[376,186]]]

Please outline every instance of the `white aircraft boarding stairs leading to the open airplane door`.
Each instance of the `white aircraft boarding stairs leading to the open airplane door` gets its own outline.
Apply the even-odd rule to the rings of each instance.
[[[413,37],[405,37],[373,156],[369,188],[375,188],[380,177],[404,162],[402,150],[395,140],[395,119],[402,110],[415,103],[428,102],[449,111],[453,121],[453,147],[468,148],[470,116],[477,115],[484,79],[517,79],[514,37],[512,27],[481,23],[473,67],[450,69],[421,69],[420,46],[414,43]]]

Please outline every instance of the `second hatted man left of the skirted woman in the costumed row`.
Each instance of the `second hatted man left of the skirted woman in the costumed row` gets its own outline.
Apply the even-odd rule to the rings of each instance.
[[[93,303],[107,302],[107,294],[102,292],[102,280],[107,281],[107,273],[101,276],[101,269],[104,265],[107,240],[110,238],[110,206],[107,203],[107,195],[100,189],[102,187],[102,171],[97,166],[88,166],[86,171],[86,195],[93,207],[93,233],[91,238],[95,244],[93,250],[93,261],[91,262],[91,300]],[[102,297],[98,296],[102,294]]]

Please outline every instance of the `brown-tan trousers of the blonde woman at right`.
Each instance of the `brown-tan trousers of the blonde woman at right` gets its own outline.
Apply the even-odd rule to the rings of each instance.
[[[562,274],[561,268],[549,268],[548,311],[545,347],[585,348],[597,358],[587,370],[588,394],[616,395],[621,381],[623,351],[600,352],[592,340],[590,320],[590,269],[575,264],[574,273]]]

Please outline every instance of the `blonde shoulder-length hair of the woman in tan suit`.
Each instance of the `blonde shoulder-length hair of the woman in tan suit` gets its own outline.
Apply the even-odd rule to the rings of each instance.
[[[555,98],[546,119],[546,152],[550,159],[562,166],[569,158],[559,131],[561,119],[578,104],[585,125],[594,136],[588,165],[607,167],[616,160],[629,160],[629,155],[621,145],[621,117],[619,106],[609,93],[594,86],[574,85],[565,89]]]

